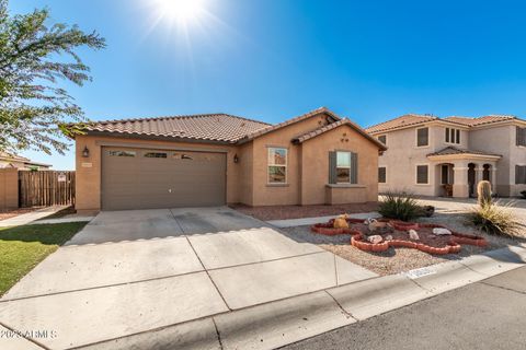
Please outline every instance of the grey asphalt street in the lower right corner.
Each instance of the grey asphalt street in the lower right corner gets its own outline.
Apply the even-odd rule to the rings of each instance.
[[[281,349],[526,349],[526,267]]]

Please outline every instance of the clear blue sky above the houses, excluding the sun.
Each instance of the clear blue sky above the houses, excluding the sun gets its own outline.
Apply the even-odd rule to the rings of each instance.
[[[526,115],[521,1],[202,0],[155,23],[161,0],[11,0],[98,31],[71,88],[93,120],[229,113],[277,122],[327,106],[366,127],[405,113]],[[171,25],[170,25],[171,23]],[[22,152],[55,168],[73,155]]]

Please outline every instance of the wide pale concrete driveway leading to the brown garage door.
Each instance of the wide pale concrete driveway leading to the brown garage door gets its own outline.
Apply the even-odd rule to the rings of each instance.
[[[0,322],[67,349],[371,277],[229,208],[102,212],[0,300]]]

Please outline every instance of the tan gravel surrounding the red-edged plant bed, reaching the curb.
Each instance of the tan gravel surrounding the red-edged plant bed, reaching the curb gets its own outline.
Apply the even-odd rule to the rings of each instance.
[[[335,236],[316,234],[310,231],[310,226],[296,226],[281,230],[293,240],[317,244],[321,248],[332,252],[354,264],[361,265],[380,276],[393,275],[447,260],[455,260],[469,255],[502,248],[507,245],[526,245],[525,238],[488,235],[477,231],[472,226],[466,225],[466,215],[462,212],[437,212],[432,218],[420,219],[416,221],[442,224],[460,233],[481,235],[488,240],[489,246],[487,248],[481,248],[471,245],[462,245],[459,254],[442,256],[430,255],[416,249],[392,247],[384,253],[369,253],[353,247],[351,245],[351,235],[348,234]]]

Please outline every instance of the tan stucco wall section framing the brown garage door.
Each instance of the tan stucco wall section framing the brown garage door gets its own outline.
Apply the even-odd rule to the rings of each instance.
[[[101,148],[103,143],[121,147],[169,147],[172,150],[219,150],[227,151],[227,202],[239,202],[240,163],[233,163],[237,147],[207,143],[184,143],[158,140],[139,140],[100,136],[78,136],[76,139],[76,209],[92,211],[101,209]],[[82,150],[88,147],[90,158],[82,158]],[[238,154],[239,155],[239,154]],[[91,167],[82,166],[91,164]]]

